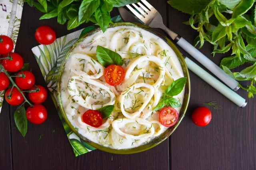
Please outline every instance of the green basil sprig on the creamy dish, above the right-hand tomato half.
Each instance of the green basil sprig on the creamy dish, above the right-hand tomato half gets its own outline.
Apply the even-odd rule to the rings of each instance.
[[[156,105],[156,107],[153,109],[153,111],[161,109],[165,105],[173,107],[173,108],[180,107],[181,106],[180,102],[171,96],[176,96],[182,91],[182,89],[186,83],[186,79],[187,79],[187,77],[181,77],[181,78],[175,80],[174,82],[172,82],[172,84],[170,84],[169,87],[166,89],[166,91],[163,95],[163,99],[158,103],[158,105]]]

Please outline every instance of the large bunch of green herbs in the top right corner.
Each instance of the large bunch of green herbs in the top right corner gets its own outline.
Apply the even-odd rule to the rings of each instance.
[[[256,1],[255,0],[169,0],[168,3],[191,15],[188,22],[199,32],[194,46],[204,41],[213,45],[215,53],[226,53],[232,49],[232,56],[222,59],[220,67],[238,81],[250,81],[242,87],[248,97],[256,94]],[[189,6],[189,8],[188,8]],[[247,63],[240,72],[230,69]]]

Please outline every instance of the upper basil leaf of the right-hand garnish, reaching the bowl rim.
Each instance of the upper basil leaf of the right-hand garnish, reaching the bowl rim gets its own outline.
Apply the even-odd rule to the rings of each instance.
[[[174,82],[172,82],[172,84],[169,85],[169,87],[166,89],[165,93],[169,96],[178,95],[182,91],[182,89],[186,83],[186,79],[187,79],[187,77],[181,77],[181,78],[175,80]]]

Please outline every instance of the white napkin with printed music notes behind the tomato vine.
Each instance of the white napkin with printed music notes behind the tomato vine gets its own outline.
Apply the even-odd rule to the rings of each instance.
[[[20,29],[23,3],[24,0],[0,0],[0,35],[12,38],[14,47]],[[0,91],[0,112],[4,101],[4,92],[5,90]]]

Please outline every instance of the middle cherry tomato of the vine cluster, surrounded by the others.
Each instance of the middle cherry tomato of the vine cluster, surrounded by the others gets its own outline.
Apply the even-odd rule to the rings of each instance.
[[[15,82],[20,89],[30,89],[35,83],[35,76],[30,71],[20,71],[18,74],[22,75],[22,77],[15,77]]]

